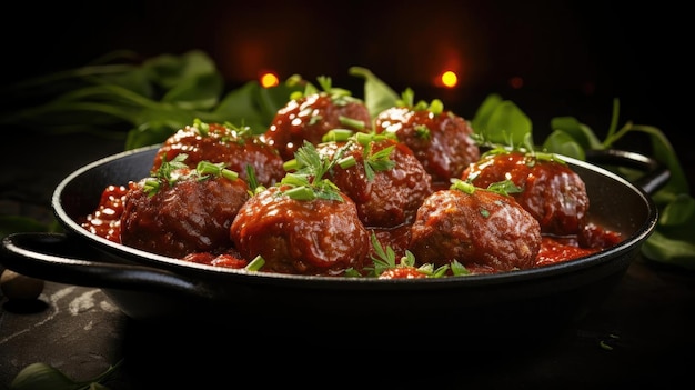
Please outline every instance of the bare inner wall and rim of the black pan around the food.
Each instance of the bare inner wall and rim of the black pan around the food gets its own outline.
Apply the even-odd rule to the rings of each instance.
[[[204,264],[190,264],[182,260],[170,259],[162,256],[154,256],[140,250],[135,250],[122,244],[117,244],[94,234],[89,233],[79,224],[79,220],[84,216],[93,212],[97,208],[101,193],[107,186],[117,184],[125,186],[129,181],[137,181],[150,174],[154,154],[159,150],[159,146],[135,149],[119,154],[114,154],[91,164],[88,164],[69,177],[67,177],[57,187],[52,207],[59,221],[67,229],[77,236],[92,243],[97,249],[105,250],[110,254],[122,257],[124,261],[148,262],[150,264],[164,266],[164,268],[174,267],[177,270],[181,268],[202,269],[210,273],[235,273],[238,270],[221,269]],[[654,224],[656,223],[656,211],[651,198],[641,189],[636,188],[623,178],[611,173],[594,164],[578,161],[571,158],[565,160],[582,177],[586,184],[590,198],[590,219],[606,229],[621,232],[625,240],[618,244],[620,248],[607,250],[606,253],[592,256],[588,258],[573,260],[553,264],[540,269],[505,272],[504,274],[488,274],[466,277],[466,279],[481,280],[505,280],[513,273],[515,279],[536,278],[540,276],[552,276],[557,273],[571,272],[574,269],[591,267],[595,261],[607,261],[606,257],[611,257],[611,252],[624,252],[633,250],[642,240],[646,239]],[[354,278],[319,278],[319,277],[300,277],[300,276],[279,276],[264,274],[266,278],[295,279],[299,281],[326,279],[329,282],[335,279]],[[256,278],[258,279],[258,278]],[[427,283],[445,284],[449,281],[443,278],[421,279]],[[473,282],[471,280],[471,282]]]

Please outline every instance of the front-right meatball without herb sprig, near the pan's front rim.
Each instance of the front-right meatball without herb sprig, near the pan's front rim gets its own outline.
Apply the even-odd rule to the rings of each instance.
[[[541,249],[541,227],[510,196],[452,188],[425,199],[409,248],[419,263],[456,260],[473,273],[528,269]]]

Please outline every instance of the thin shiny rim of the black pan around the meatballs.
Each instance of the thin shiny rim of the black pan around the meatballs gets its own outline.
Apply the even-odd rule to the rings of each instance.
[[[396,284],[396,286],[405,286],[405,284],[431,284],[437,287],[459,287],[462,284],[465,286],[479,286],[479,284],[497,284],[497,283],[508,283],[508,282],[521,282],[526,280],[540,280],[544,278],[553,278],[566,273],[576,272],[582,269],[588,269],[592,267],[598,267],[606,262],[618,260],[622,256],[627,256],[632,251],[638,250],[641,243],[648,238],[651,232],[653,231],[653,227],[657,221],[657,211],[654,206],[652,199],[648,194],[633,186],[631,182],[625,179],[604,170],[601,167],[591,164],[585,161],[576,160],[570,157],[563,157],[563,160],[566,162],[573,163],[575,166],[582,166],[593,171],[597,171],[598,173],[607,177],[611,180],[620,181],[623,186],[629,187],[633,191],[641,194],[645,207],[648,208],[648,218],[645,220],[643,226],[631,237],[626,238],[623,242],[618,243],[615,247],[608,248],[601,252],[586,256],[583,258],[574,259],[567,262],[561,262],[556,264],[545,266],[542,268],[534,268],[527,270],[515,270],[510,272],[497,272],[493,274],[474,274],[474,276],[464,276],[464,277],[449,277],[449,278],[427,278],[427,279],[376,279],[376,278],[346,278],[346,277],[320,277],[320,276],[300,276],[300,274],[284,274],[284,273],[274,273],[274,272],[252,272],[240,269],[231,269],[223,267],[215,267],[209,264],[200,264],[193,263],[184,260],[179,260],[170,257],[159,256],[155,253],[150,253],[147,251],[142,251],[135,248],[130,248],[120,243],[115,243],[109,241],[102,237],[95,236],[83,229],[79,223],[77,223],[72,218],[70,218],[64,211],[61,202],[61,194],[64,191],[66,187],[71,183],[75,178],[81,176],[82,173],[90,171],[92,169],[97,169],[100,166],[103,166],[108,162],[119,160],[125,158],[131,154],[142,153],[150,151],[152,149],[159,149],[160,144],[148,146],[143,148],[132,149],[124,152],[120,152],[117,154],[112,154],[105,157],[103,159],[97,160],[92,163],[89,163],[68,177],[66,177],[56,188],[52,196],[52,207],[53,212],[58,220],[68,229],[70,233],[77,234],[82,238],[90,244],[92,244],[97,249],[105,250],[111,254],[115,254],[122,259],[129,261],[135,261],[141,264],[153,266],[155,268],[162,270],[173,270],[180,273],[190,273],[200,274],[203,277],[222,277],[222,278],[233,278],[239,280],[253,280],[253,282],[258,283],[306,283],[312,282],[319,284],[330,284],[334,287],[341,286],[356,286],[356,284],[377,284],[377,286],[386,286],[386,284]],[[94,244],[95,243],[95,244]]]

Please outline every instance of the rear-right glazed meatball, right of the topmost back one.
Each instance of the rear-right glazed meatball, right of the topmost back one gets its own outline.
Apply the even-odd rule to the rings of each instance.
[[[432,180],[449,187],[463,170],[480,158],[480,149],[466,120],[451,111],[393,107],[379,113],[374,130],[394,132],[407,144]]]

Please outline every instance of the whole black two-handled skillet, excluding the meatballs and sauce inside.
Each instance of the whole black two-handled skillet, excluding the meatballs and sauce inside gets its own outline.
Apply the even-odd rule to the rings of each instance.
[[[64,233],[21,232],[2,241],[2,263],[44,280],[97,287],[137,321],[190,321],[294,334],[449,334],[460,340],[552,332],[595,308],[639,254],[657,221],[651,199],[669,172],[642,154],[608,151],[592,163],[565,158],[586,183],[593,221],[620,244],[573,261],[497,274],[377,280],[248,272],[197,264],[117,244],[82,229],[109,184],[149,173],[158,147],[78,169],[56,188]],[[646,171],[627,181],[602,167]],[[457,334],[457,336],[453,336]],[[467,342],[467,341],[464,341]]]

